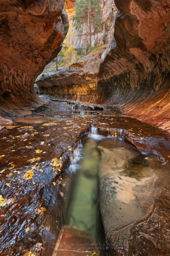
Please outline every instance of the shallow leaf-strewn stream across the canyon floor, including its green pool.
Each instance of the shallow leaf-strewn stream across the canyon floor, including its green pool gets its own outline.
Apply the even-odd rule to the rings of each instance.
[[[71,111],[66,102],[49,103],[0,131],[0,255],[105,255],[166,202],[165,132],[111,108]],[[160,240],[154,221],[135,232]]]

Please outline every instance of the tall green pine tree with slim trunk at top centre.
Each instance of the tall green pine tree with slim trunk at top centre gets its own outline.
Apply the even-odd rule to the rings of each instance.
[[[76,0],[73,22],[76,30],[81,34],[86,24],[86,30],[89,37],[89,45],[91,46],[92,28],[94,28],[96,32],[101,31],[102,21],[100,0]]]

